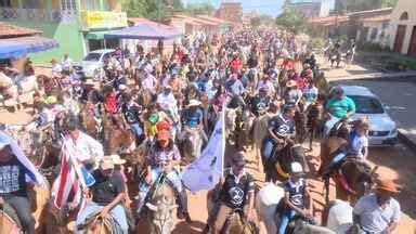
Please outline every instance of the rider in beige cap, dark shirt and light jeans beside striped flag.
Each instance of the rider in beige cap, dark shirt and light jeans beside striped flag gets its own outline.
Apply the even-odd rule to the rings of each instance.
[[[100,210],[100,216],[107,219],[110,216],[122,234],[127,234],[129,225],[127,216],[122,207],[125,198],[125,182],[120,173],[114,172],[114,162],[112,158],[104,159],[100,162],[100,169],[93,171],[95,183],[86,188],[83,192],[88,195],[92,194],[91,202],[87,207],[78,213],[77,227],[82,230],[87,224],[86,220],[91,214]]]

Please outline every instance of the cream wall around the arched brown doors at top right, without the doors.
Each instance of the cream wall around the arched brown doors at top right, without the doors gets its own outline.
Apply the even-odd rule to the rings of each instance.
[[[403,12],[407,12],[408,20],[400,21],[400,16]],[[398,25],[406,25],[406,35],[403,40],[402,54],[407,54],[408,46],[411,42],[413,27],[416,26],[416,6],[415,0],[399,0],[398,5],[393,10],[390,21],[390,48],[393,50],[395,34],[398,29]]]

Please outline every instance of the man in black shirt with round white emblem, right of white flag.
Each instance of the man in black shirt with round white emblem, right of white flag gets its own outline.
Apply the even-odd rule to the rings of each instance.
[[[251,210],[255,204],[255,181],[245,169],[246,160],[242,152],[236,153],[232,159],[231,168],[224,170],[224,174],[217,187],[212,202],[213,207],[209,211],[207,225],[203,233],[208,233],[212,227],[221,209],[229,210],[225,216],[234,211],[243,212],[243,220],[251,220]],[[222,217],[224,218],[224,217]],[[226,220],[222,220],[222,225]],[[216,226],[221,230],[223,226]]]

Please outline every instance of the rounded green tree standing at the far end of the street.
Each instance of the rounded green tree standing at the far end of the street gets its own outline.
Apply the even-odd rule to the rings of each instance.
[[[292,5],[285,5],[282,14],[276,17],[276,24],[300,29],[306,23],[304,14]]]

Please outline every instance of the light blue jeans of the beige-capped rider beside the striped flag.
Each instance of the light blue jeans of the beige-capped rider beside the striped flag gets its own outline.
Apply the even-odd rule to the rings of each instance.
[[[77,226],[82,225],[88,216],[103,207],[104,206],[100,206],[94,202],[89,203],[87,207],[80,213],[78,213],[76,221]],[[113,209],[109,210],[109,214],[117,222],[117,227],[119,229],[119,232],[122,234],[127,234],[129,231],[129,225],[127,223],[126,210],[122,205],[118,204],[117,206],[113,207]]]

